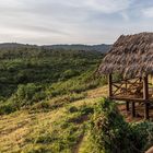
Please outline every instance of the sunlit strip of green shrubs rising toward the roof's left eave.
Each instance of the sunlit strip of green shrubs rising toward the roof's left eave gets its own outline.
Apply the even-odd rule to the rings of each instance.
[[[49,89],[49,93],[51,96],[69,93],[81,93],[86,90],[95,89],[99,84],[106,84],[105,78],[94,79],[93,76],[93,70],[85,71],[79,76],[74,76],[73,79],[67,80],[64,82],[54,83]]]

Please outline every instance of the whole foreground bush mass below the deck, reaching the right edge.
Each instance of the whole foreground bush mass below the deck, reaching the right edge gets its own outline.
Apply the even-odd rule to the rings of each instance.
[[[153,144],[153,125],[126,122],[108,99],[102,99],[95,107],[91,133],[96,153],[140,153]]]

